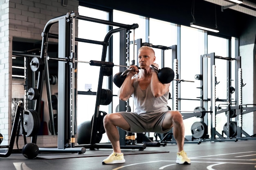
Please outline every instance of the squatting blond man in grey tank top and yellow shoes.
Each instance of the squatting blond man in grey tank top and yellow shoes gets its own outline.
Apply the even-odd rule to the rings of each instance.
[[[117,127],[128,132],[168,132],[173,127],[173,136],[177,141],[176,163],[190,164],[190,159],[183,150],[184,146],[184,124],[180,112],[168,110],[167,102],[169,95],[168,84],[159,82],[157,72],[150,68],[155,62],[155,51],[149,46],[142,46],[138,51],[137,66],[130,66],[130,71],[124,83],[119,88],[120,100],[126,101],[131,96],[134,101],[135,112],[118,112],[108,114],[103,123],[113,148],[113,153],[103,160],[103,164],[124,163],[124,154],[121,153],[119,143],[119,132]]]

